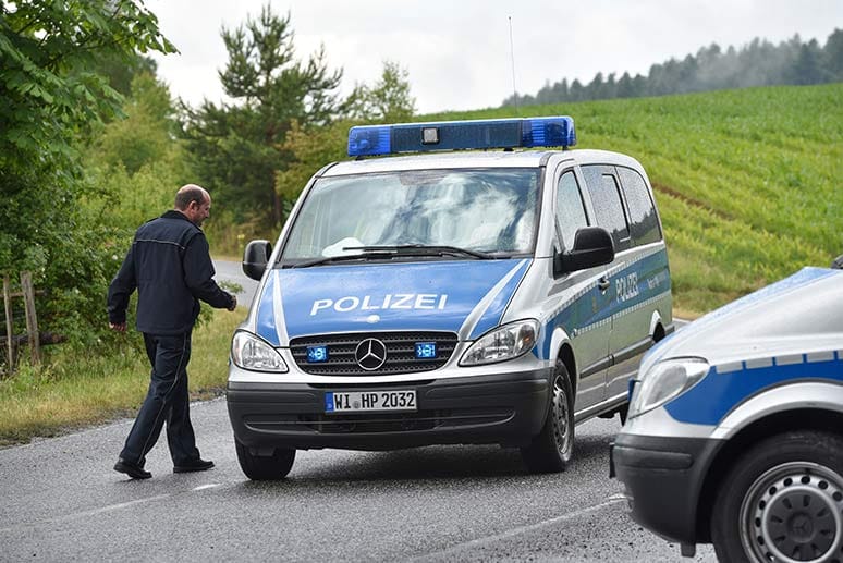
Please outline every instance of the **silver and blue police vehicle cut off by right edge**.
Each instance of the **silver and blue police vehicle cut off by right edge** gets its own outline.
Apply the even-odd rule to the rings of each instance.
[[[611,455],[637,522],[688,556],[843,561],[843,270],[702,317],[639,375]]]

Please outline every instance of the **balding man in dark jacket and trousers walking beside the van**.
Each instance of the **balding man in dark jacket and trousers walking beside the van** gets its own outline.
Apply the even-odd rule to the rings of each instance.
[[[146,454],[167,421],[173,472],[203,472],[213,462],[199,457],[190,416],[187,362],[199,299],[234,310],[237,299],[213,281],[208,241],[200,227],[210,215],[210,195],[187,184],[175,195],[175,209],[143,224],[108,291],[109,326],[126,330],[129,297],[137,289],[137,330],[144,333],[152,365],[149,392],[114,470],[148,479]]]

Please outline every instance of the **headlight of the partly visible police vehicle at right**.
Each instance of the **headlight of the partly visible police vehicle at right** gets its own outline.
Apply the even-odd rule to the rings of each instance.
[[[644,374],[630,402],[630,418],[652,411],[694,387],[709,365],[702,358],[676,358],[659,362]]]

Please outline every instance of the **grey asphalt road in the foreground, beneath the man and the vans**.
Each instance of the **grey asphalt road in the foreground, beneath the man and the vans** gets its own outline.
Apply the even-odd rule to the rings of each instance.
[[[240,470],[224,400],[192,415],[209,472],[173,474],[163,440],[152,479],[113,472],[131,420],[0,450],[0,561],[680,560],[608,478],[616,418],[577,428],[563,474],[528,475],[496,446],[321,450],[258,484]]]

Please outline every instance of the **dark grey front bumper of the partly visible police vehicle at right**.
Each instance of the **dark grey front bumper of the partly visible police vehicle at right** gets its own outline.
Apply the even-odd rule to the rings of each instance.
[[[707,438],[618,435],[611,445],[610,473],[626,487],[633,518],[672,541],[706,541],[697,535],[697,503],[722,443]]]

